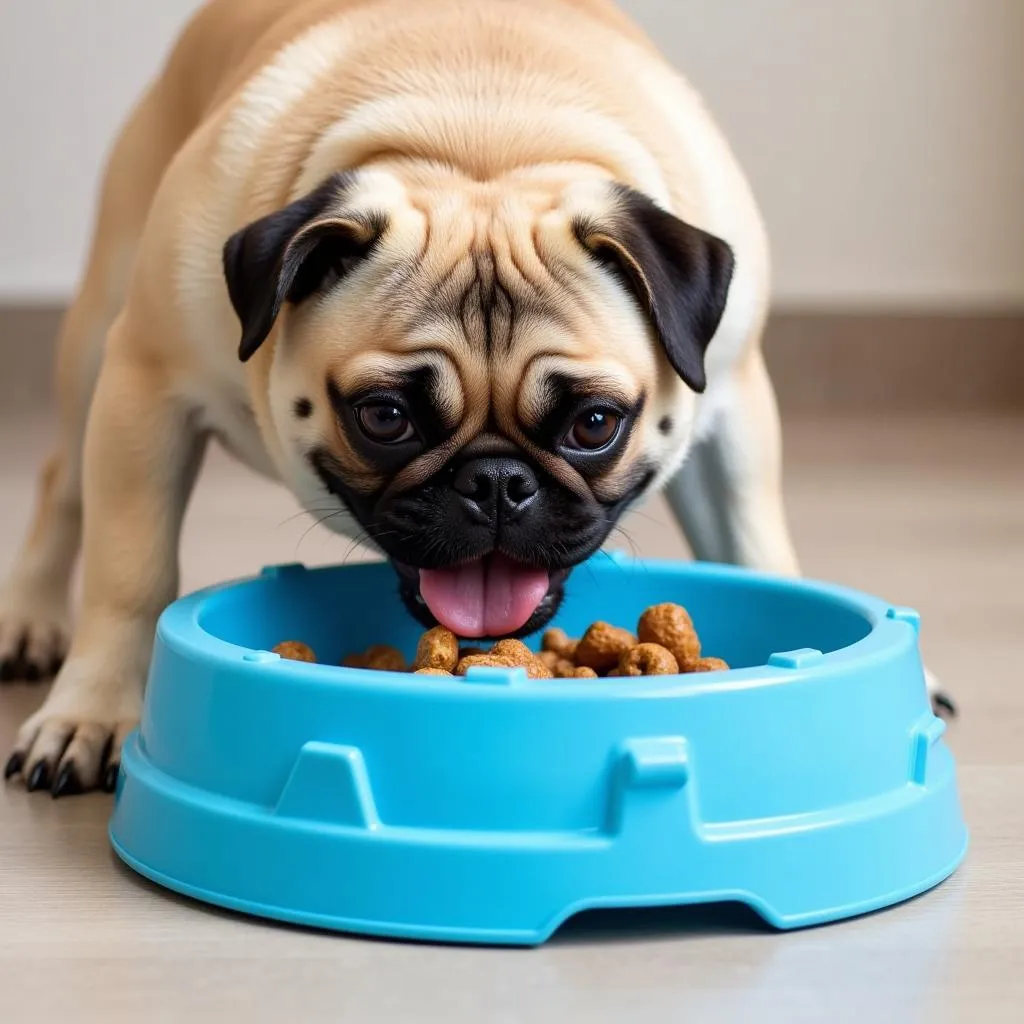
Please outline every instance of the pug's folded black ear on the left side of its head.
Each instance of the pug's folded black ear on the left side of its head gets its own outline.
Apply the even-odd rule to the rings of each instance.
[[[301,302],[344,276],[373,249],[383,226],[379,219],[333,213],[350,184],[348,176],[335,175],[227,240],[224,276],[242,322],[243,362],[266,340],[286,301]]]

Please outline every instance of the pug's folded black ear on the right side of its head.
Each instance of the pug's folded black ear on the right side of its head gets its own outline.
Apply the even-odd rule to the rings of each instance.
[[[577,237],[650,317],[676,373],[703,391],[705,351],[725,311],[732,249],[625,185],[614,186],[613,199],[607,222],[580,221]]]

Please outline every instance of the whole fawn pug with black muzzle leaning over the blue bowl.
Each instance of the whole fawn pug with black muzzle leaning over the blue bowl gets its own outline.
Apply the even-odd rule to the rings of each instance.
[[[768,285],[728,145],[609,0],[212,0],[61,329],[0,670],[62,667],[6,775],[114,786],[211,437],[463,637],[543,627],[662,487],[697,557],[796,573]]]

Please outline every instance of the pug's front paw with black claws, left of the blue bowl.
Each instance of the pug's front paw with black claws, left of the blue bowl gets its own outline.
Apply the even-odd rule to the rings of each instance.
[[[141,687],[134,685],[61,686],[18,730],[4,778],[20,775],[26,788],[70,797],[89,790],[113,793],[125,737],[138,724]],[[85,683],[85,685],[81,685]]]

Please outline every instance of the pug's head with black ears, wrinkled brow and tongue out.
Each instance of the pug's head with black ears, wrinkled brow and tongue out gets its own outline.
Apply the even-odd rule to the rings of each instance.
[[[338,175],[224,249],[288,482],[461,636],[543,626],[678,466],[725,307],[724,242],[571,173]]]

